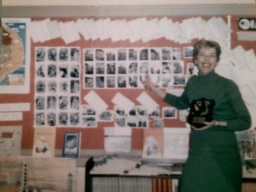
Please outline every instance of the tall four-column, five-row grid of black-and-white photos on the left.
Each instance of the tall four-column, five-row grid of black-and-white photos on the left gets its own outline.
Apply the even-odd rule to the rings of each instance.
[[[35,127],[80,127],[80,47],[35,47]]]

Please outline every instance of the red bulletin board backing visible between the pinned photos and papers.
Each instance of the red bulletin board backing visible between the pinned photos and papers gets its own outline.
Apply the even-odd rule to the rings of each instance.
[[[172,19],[173,22],[179,22],[181,23],[183,20],[189,19],[193,16],[175,16],[175,17],[168,17],[168,19]],[[198,16],[194,16],[195,18]],[[220,17],[225,22],[228,22],[227,15],[220,15],[216,16]],[[246,15],[243,15],[241,17],[246,17]],[[86,17],[87,19],[93,19],[93,20],[99,20],[99,19],[107,19],[106,17]],[[154,17],[155,19],[161,19],[163,17]],[[211,19],[211,16],[204,16],[202,19],[205,21]],[[256,54],[256,47],[255,47],[255,41],[240,41],[237,40],[237,31],[240,29],[238,28],[237,20],[240,18],[240,16],[230,16],[230,28],[232,29],[232,33],[230,35],[230,49],[233,49],[234,47],[237,47],[237,45],[242,45],[245,51],[248,51],[250,49],[253,49],[254,54]],[[47,18],[31,18],[32,22],[45,20]],[[84,19],[84,18],[81,18]],[[109,17],[110,20],[134,20],[138,19],[138,17]],[[153,19],[152,17],[146,17],[147,20]],[[58,22],[76,22],[77,18],[50,18],[50,20],[56,20]],[[68,32],[67,32],[68,33]],[[125,97],[129,98],[134,102],[136,105],[140,105],[138,102],[137,97],[145,91],[143,88],[132,88],[132,87],[126,87],[126,88],[84,88],[84,50],[86,49],[113,49],[117,51],[120,48],[124,49],[148,49],[156,48],[156,49],[162,49],[164,47],[172,47],[172,49],[180,49],[180,60],[184,62],[184,75],[186,75],[187,71],[187,65],[188,63],[193,63],[192,58],[184,58],[184,47],[191,47],[198,38],[193,38],[189,42],[183,42],[182,44],[180,42],[173,42],[172,40],[166,40],[166,38],[157,38],[156,40],[149,40],[147,42],[143,42],[141,39],[136,40],[135,42],[131,42],[129,40],[118,40],[116,42],[113,42],[111,39],[106,40],[100,40],[99,38],[92,40],[88,39],[85,40],[83,36],[80,34],[81,38],[77,41],[70,42],[68,44],[65,43],[65,41],[62,38],[53,38],[50,40],[46,40],[45,42],[33,42],[31,40],[31,62],[30,62],[30,91],[29,93],[25,94],[10,94],[10,93],[2,93],[0,94],[0,100],[1,103],[30,103],[31,108],[29,111],[22,112],[23,118],[22,120],[17,121],[1,121],[1,125],[22,125],[22,149],[30,150],[33,148],[33,137],[35,132],[35,100],[36,100],[36,49],[38,47],[57,47],[57,49],[61,49],[61,47],[77,47],[80,50],[80,58],[79,58],[79,64],[80,64],[80,76],[77,77],[77,80],[79,80],[80,84],[80,90],[79,90],[79,97],[80,97],[80,105],[87,104],[86,101],[83,99],[85,95],[87,95],[90,91],[94,91],[99,95],[106,104],[108,104],[108,109],[113,110],[114,104],[111,102],[113,97],[115,97],[116,93],[121,93]],[[47,80],[47,79],[46,79]],[[173,85],[172,89],[182,89],[184,86],[182,85]],[[163,88],[163,90],[165,90]],[[152,99],[155,100],[157,104],[159,104],[159,109],[162,109],[164,107],[168,107],[168,104],[164,103],[163,100],[159,99],[156,95],[148,92],[148,95],[152,97]],[[69,97],[69,96],[68,96]],[[71,97],[71,96],[70,96]],[[70,99],[70,98],[68,98]],[[161,117],[163,114],[162,111],[159,111],[159,116]],[[152,129],[154,121],[152,120],[152,117],[148,117],[148,129]],[[185,127],[186,122],[181,121],[179,119],[179,113],[177,113],[177,118],[164,118],[164,127]],[[81,132],[81,149],[82,150],[103,150],[104,149],[104,127],[115,127],[115,122],[97,122],[97,127],[77,127],[77,126],[58,126],[56,128],[56,143],[55,148],[61,149],[63,147],[63,141],[64,141],[64,132],[68,131],[79,131]],[[132,141],[131,141],[131,150],[143,150],[143,129],[140,127],[132,127]]]

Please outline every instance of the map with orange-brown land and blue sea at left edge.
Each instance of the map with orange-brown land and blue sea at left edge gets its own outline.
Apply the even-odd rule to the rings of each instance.
[[[29,93],[30,19],[2,19],[0,93]]]

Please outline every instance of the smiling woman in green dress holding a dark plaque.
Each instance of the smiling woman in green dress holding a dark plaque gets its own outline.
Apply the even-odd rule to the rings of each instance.
[[[175,108],[190,107],[191,146],[180,192],[241,191],[242,166],[235,131],[249,129],[251,118],[237,85],[214,72],[220,54],[218,43],[196,42],[193,60],[198,76],[190,77],[180,97],[157,89],[149,77],[144,82],[145,88]]]

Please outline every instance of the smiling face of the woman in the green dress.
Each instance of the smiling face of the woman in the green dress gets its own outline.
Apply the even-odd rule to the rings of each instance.
[[[195,64],[203,75],[209,74],[218,65],[216,49],[211,47],[202,47],[198,51]]]

